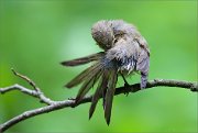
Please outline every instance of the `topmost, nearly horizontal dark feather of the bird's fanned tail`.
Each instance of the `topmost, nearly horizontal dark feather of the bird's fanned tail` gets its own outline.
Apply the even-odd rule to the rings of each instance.
[[[100,52],[97,54],[92,54],[86,57],[81,57],[81,58],[76,58],[73,60],[66,60],[66,62],[62,62],[61,64],[63,66],[78,66],[78,65],[84,65],[94,60],[98,60],[99,58],[101,58],[105,55],[105,52]]]

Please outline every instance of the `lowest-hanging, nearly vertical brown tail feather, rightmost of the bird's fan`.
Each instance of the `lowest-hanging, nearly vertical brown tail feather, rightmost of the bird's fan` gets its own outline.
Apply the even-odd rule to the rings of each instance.
[[[111,119],[112,101],[116,90],[116,84],[118,80],[117,69],[112,69],[109,73],[110,73],[110,77],[108,81],[108,90],[106,92],[106,101],[105,101],[105,118],[108,125]]]

